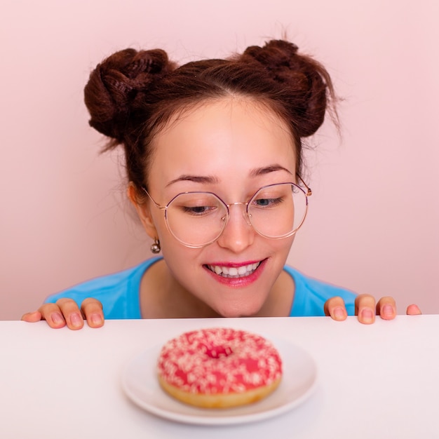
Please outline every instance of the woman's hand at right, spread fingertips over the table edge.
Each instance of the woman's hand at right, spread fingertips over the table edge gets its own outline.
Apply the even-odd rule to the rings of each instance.
[[[407,316],[416,316],[421,314],[417,305],[409,305],[406,310]],[[342,297],[331,297],[325,302],[325,315],[334,320],[345,320],[348,316],[346,306]],[[359,295],[355,299],[355,315],[358,316],[360,323],[369,325],[374,323],[375,316],[380,316],[384,320],[392,320],[396,317],[396,303],[393,297],[381,297],[375,303],[371,295]]]

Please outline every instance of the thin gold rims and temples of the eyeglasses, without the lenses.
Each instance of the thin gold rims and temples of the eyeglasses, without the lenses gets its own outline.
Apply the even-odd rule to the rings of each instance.
[[[216,236],[215,238],[213,238],[213,239],[211,239],[210,241],[208,241],[208,243],[204,243],[204,244],[201,244],[201,245],[194,245],[194,244],[188,244],[188,243],[185,243],[185,242],[182,241],[178,236],[175,236],[173,230],[169,227],[169,224],[168,224],[168,215],[167,215],[167,212],[168,212],[168,207],[169,207],[169,205],[175,200],[175,198],[177,198],[177,196],[180,196],[180,195],[182,195],[182,194],[190,194],[191,191],[181,192],[180,194],[177,194],[177,195],[173,196],[173,198],[171,198],[171,200],[168,202],[167,205],[160,205],[160,204],[156,203],[156,201],[154,200],[154,198],[151,197],[151,195],[149,194],[149,192],[147,191],[147,189],[146,189],[145,187],[142,187],[142,190],[144,191],[145,194],[147,194],[147,196],[148,196],[149,199],[154,203],[154,205],[156,206],[156,208],[158,208],[158,209],[164,211],[163,213],[164,213],[164,215],[165,215],[166,228],[168,229],[168,231],[170,232],[170,234],[171,234],[172,236],[174,236],[174,238],[175,238],[177,241],[179,241],[180,243],[182,243],[182,245],[184,245],[185,247],[188,247],[188,248],[203,248],[203,247],[205,247],[206,245],[210,245],[210,244],[212,244],[212,243],[215,243],[215,241],[217,241],[217,239],[219,238],[219,236],[222,235],[222,232],[224,231],[224,229],[225,229],[226,226],[227,226],[227,223],[229,222],[229,217],[230,217],[230,210],[229,210],[229,208],[230,208],[230,206],[232,206],[232,205],[243,205],[243,206],[245,206],[245,216],[246,216],[246,218],[247,218],[247,222],[248,222],[248,224],[250,225],[250,227],[252,227],[252,229],[253,229],[258,235],[263,236],[264,238],[268,238],[268,239],[284,239],[284,238],[290,238],[290,236],[295,235],[296,232],[300,229],[300,227],[302,227],[302,224],[304,224],[304,221],[305,221],[305,218],[306,218],[306,213],[308,212],[308,197],[311,196],[311,195],[313,194],[313,192],[311,191],[311,188],[310,188],[310,187],[304,182],[304,180],[302,180],[302,177],[300,177],[300,175],[298,175],[298,174],[297,174],[296,176],[297,176],[297,179],[300,180],[300,182],[302,183],[302,185],[304,186],[304,188],[303,188],[303,187],[300,187],[299,185],[297,185],[297,183],[292,183],[292,182],[274,183],[274,184],[292,184],[292,185],[294,185],[295,187],[297,187],[297,189],[299,189],[300,191],[302,191],[302,192],[304,193],[305,201],[306,201],[304,217],[302,218],[302,221],[300,222],[300,224],[299,224],[295,229],[293,229],[292,231],[290,231],[288,234],[285,234],[285,235],[282,235],[282,236],[276,236],[276,237],[273,238],[273,236],[266,236],[266,235],[262,234],[259,230],[257,230],[257,229],[253,226],[253,224],[252,224],[252,222],[251,222],[251,219],[250,219],[250,216],[251,216],[251,215],[249,215],[249,213],[248,213],[248,204],[250,203],[250,201],[252,201],[252,199],[255,197],[255,195],[257,194],[257,192],[259,192],[259,191],[260,191],[261,189],[263,189],[264,187],[270,187],[270,186],[273,186],[274,184],[267,184],[266,186],[263,186],[263,187],[260,187],[259,189],[257,189],[257,191],[255,192],[255,194],[253,194],[253,195],[250,197],[250,199],[249,199],[249,201],[247,201],[247,203],[243,203],[242,201],[237,201],[236,203],[229,203],[229,204],[228,204],[228,203],[226,203],[225,201],[223,201],[222,198],[219,198],[219,196],[217,196],[217,194],[214,194],[213,192],[209,192],[209,191],[207,191],[207,192],[205,192],[206,194],[212,194],[213,196],[215,196],[216,198],[218,198],[218,200],[221,201],[221,202],[226,206],[226,208],[227,208],[227,215],[226,215],[226,218],[225,218],[225,221],[224,221],[224,226],[222,227],[222,229],[221,229],[221,231],[219,232],[219,234],[217,234],[217,236]],[[306,190],[305,190],[305,189],[306,189]],[[203,192],[203,191],[196,191],[196,192]]]

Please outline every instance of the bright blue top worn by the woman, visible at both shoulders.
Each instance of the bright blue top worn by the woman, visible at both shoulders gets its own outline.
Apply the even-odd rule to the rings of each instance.
[[[46,303],[55,303],[62,297],[69,297],[69,299],[74,299],[78,306],[81,306],[83,299],[93,297],[102,303],[106,319],[142,318],[140,314],[140,281],[144,272],[161,258],[153,257],[131,269],[80,283],[49,296]],[[353,292],[306,277],[287,265],[285,265],[284,270],[290,274],[295,282],[291,317],[325,316],[323,306],[327,299],[335,296],[342,297],[349,316],[354,315],[356,295]]]

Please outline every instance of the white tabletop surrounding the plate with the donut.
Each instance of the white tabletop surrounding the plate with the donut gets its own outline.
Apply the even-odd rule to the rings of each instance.
[[[301,405],[250,424],[198,426],[156,417],[123,393],[123,367],[198,327],[288,339],[318,366]],[[100,330],[0,322],[0,438],[439,438],[439,316],[109,320]]]

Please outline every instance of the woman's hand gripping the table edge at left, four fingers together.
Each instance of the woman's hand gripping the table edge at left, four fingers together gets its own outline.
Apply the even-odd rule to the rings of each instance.
[[[90,327],[104,325],[102,304],[91,297],[84,299],[81,309],[73,299],[59,299],[55,304],[43,304],[38,311],[26,313],[21,320],[25,322],[39,322],[46,320],[50,327],[59,328],[67,325],[71,330],[79,330],[84,325],[84,318]]]

